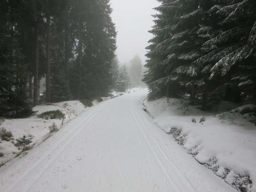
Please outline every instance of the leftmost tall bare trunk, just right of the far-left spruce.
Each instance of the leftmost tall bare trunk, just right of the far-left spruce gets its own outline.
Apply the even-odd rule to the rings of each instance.
[[[34,60],[34,105],[38,105],[38,49],[39,26],[35,28],[35,60]]]

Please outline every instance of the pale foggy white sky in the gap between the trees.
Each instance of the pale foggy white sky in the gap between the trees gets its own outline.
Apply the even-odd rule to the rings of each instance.
[[[152,34],[148,30],[154,25],[154,7],[160,5],[156,0],[110,0],[112,21],[117,30],[117,55],[123,64],[132,60],[138,53],[143,65],[147,59],[144,55]]]

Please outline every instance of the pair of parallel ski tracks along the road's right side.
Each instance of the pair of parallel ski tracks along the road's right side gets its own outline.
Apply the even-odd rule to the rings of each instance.
[[[130,100],[129,102],[129,106],[130,109],[132,111],[132,116],[134,117],[140,132],[142,133],[146,143],[148,144],[148,147],[150,148],[152,154],[154,155],[158,165],[160,166],[160,168],[162,169],[162,171],[164,172],[166,179],[170,182],[173,191],[174,192],[178,192],[181,190],[177,187],[177,184],[175,183],[175,181],[173,181],[172,176],[169,174],[164,162],[159,158],[159,156],[157,155],[157,151],[154,149],[152,143],[148,140],[145,132],[147,133],[147,135],[151,138],[151,140],[153,140],[154,142],[154,146],[156,146],[159,150],[159,152],[164,156],[164,158],[167,160],[167,162],[172,166],[172,168],[174,169],[174,171],[176,172],[177,176],[180,178],[180,182],[183,182],[183,186],[186,187],[186,191],[187,192],[196,192],[196,189],[193,187],[193,185],[184,177],[184,175],[180,172],[180,170],[177,168],[177,166],[172,162],[172,160],[166,155],[166,153],[164,152],[164,150],[162,149],[162,147],[157,143],[157,141],[155,140],[155,138],[152,136],[152,134],[148,131],[148,128],[145,126],[145,124],[143,123],[143,121],[141,120],[140,116],[138,115],[138,113],[136,112],[136,110],[134,109],[132,102],[134,99]],[[140,121],[140,123],[139,123]],[[142,126],[140,126],[140,124]],[[142,128],[143,127],[143,128]]]

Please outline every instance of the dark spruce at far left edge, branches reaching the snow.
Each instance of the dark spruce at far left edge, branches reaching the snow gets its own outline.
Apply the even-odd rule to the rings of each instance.
[[[29,74],[20,35],[20,6],[15,1],[7,1],[0,7],[0,116],[15,118],[32,111],[27,87]]]

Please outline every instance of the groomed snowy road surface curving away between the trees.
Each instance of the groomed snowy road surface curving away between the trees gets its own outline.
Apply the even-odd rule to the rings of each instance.
[[[0,168],[0,191],[236,191],[144,112],[146,90],[101,102]]]

